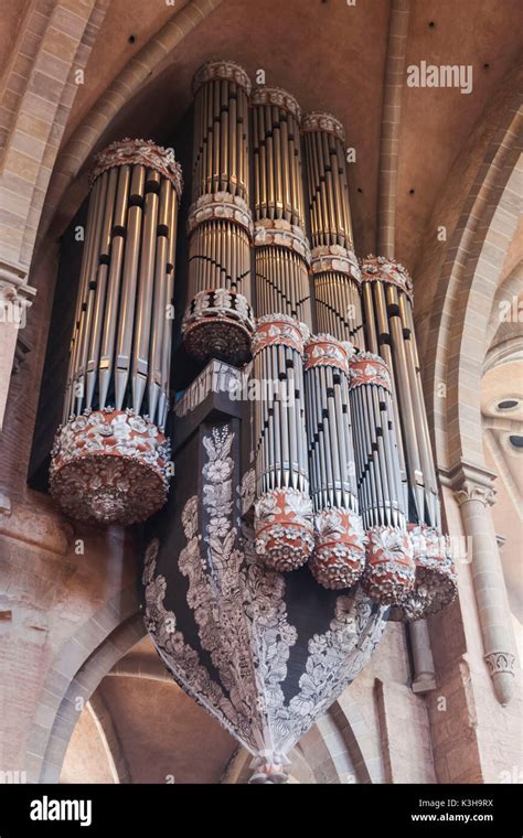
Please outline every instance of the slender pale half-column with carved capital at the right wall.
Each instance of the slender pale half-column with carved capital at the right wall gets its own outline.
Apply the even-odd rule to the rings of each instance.
[[[515,655],[503,570],[488,508],[494,503],[495,475],[467,463],[452,471],[451,484],[465,535],[472,546],[471,572],[484,660],[498,701],[504,707],[514,689]]]

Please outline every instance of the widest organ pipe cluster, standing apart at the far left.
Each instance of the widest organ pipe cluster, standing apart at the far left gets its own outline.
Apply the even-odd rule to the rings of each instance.
[[[181,190],[172,150],[152,141],[113,143],[92,172],[63,425],[50,473],[53,496],[73,517],[132,523],[166,499]]]

